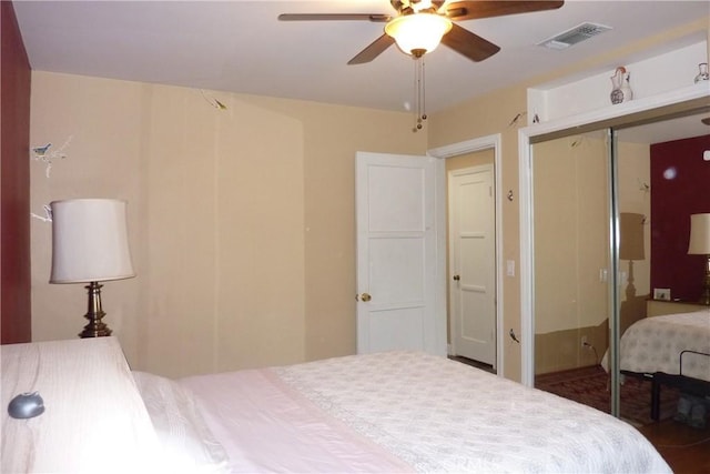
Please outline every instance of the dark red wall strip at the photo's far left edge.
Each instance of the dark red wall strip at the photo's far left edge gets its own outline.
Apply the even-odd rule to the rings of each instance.
[[[32,336],[30,279],[30,63],[14,8],[0,1],[0,342]]]

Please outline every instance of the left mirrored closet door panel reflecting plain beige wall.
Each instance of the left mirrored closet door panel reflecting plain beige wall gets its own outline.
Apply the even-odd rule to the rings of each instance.
[[[606,412],[602,359],[613,321],[609,149],[607,130],[532,145],[535,383]]]

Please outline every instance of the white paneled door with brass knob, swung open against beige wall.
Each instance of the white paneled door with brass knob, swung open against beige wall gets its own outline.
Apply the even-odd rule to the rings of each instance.
[[[358,152],[357,352],[445,353],[436,323],[435,159]]]

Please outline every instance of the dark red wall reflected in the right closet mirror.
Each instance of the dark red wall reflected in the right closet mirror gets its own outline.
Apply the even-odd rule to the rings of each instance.
[[[710,134],[652,144],[651,295],[669,288],[673,300],[696,302],[706,258],[688,255],[690,214],[710,212]]]

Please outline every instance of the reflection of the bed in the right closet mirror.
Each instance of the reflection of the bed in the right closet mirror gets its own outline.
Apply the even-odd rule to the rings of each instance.
[[[710,307],[637,321],[621,336],[619,367],[651,382],[652,420],[659,417],[661,386],[710,395]]]

